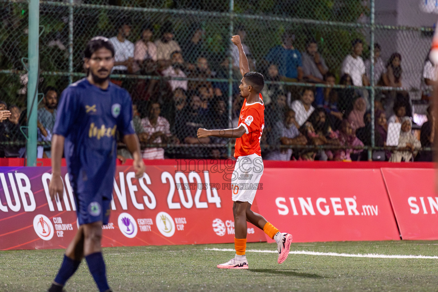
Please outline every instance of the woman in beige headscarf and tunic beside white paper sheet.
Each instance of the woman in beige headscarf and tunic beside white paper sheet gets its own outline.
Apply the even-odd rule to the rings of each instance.
[[[390,162],[410,162],[417,151],[421,148],[420,141],[411,133],[412,120],[409,116],[401,118],[402,128],[400,130],[399,145],[392,151]]]

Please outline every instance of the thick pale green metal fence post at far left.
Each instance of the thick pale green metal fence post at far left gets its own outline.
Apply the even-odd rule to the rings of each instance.
[[[27,118],[28,139],[26,142],[27,166],[36,166],[36,127],[37,94],[39,66],[39,0],[29,0],[28,33],[28,84],[27,84]]]

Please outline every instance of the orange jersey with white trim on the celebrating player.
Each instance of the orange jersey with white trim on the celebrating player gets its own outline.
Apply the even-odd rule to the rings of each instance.
[[[234,157],[257,154],[261,156],[260,138],[265,127],[265,104],[262,102],[247,103],[246,99],[240,109],[239,127],[243,125],[245,134],[236,139]]]

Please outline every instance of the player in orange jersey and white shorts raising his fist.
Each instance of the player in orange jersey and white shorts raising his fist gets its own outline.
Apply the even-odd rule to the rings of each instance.
[[[226,130],[200,128],[198,129],[198,138],[210,136],[236,138],[234,157],[237,158],[237,161],[231,178],[236,256],[217,267],[247,269],[248,261],[245,256],[247,222],[251,222],[269,237],[275,239],[279,251],[279,264],[283,263],[289,255],[292,236],[279,232],[263,216],[251,211],[255,192],[263,174],[260,138],[265,127],[265,105],[260,91],[265,85],[265,80],[262,74],[249,71],[248,60],[240,42],[240,36],[234,35],[231,41],[239,49],[240,73],[243,76],[239,89],[240,96],[245,100],[242,109],[240,109],[239,127]]]

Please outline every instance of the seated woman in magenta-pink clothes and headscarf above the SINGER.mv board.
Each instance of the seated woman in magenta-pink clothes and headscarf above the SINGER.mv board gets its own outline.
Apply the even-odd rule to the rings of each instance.
[[[358,147],[358,146],[364,146],[364,143],[360,141],[356,135],[353,132],[353,127],[351,127],[351,124],[348,120],[343,120],[341,123],[341,129],[337,131],[336,133],[338,135],[339,143],[342,146],[347,147]],[[333,154],[333,160],[338,161],[351,161],[351,154],[359,154],[362,152],[363,149],[357,150],[357,149],[339,149],[334,151]]]

